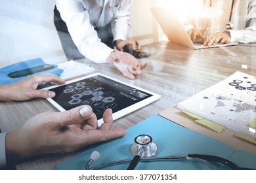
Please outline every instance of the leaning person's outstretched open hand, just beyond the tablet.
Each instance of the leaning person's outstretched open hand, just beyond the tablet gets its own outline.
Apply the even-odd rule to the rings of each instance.
[[[118,51],[112,52],[106,62],[114,63],[115,67],[130,79],[135,79],[135,76],[140,75],[142,69],[146,67],[146,62],[139,61],[131,54]]]

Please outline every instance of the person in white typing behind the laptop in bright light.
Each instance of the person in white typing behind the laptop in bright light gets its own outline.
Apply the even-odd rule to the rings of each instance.
[[[256,0],[198,0],[184,27],[194,42],[205,46],[256,42]],[[199,7],[199,8],[198,8]]]

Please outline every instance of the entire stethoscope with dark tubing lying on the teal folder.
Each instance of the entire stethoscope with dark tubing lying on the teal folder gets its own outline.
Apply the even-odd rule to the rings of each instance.
[[[140,161],[161,161],[161,160],[172,160],[172,159],[197,158],[197,159],[203,159],[205,161],[215,161],[218,163],[222,163],[234,170],[245,170],[245,169],[249,170],[249,168],[238,167],[238,165],[236,165],[232,161],[229,161],[228,159],[224,159],[218,156],[205,155],[205,154],[188,154],[187,156],[154,157],[158,152],[158,145],[156,144],[156,142],[153,142],[153,139],[152,137],[150,137],[150,135],[138,135],[137,137],[135,137],[133,144],[131,144],[130,146],[130,152],[134,156],[133,159],[123,159],[123,160],[112,161],[108,163],[102,163],[100,165],[96,165],[95,167],[90,168],[91,163],[93,163],[93,161],[96,161],[98,158],[100,158],[99,152],[94,151],[91,154],[91,157],[87,162],[85,169],[95,170],[95,169],[102,169],[104,167],[110,167],[113,165],[129,163],[127,170],[133,170],[137,167],[137,164]]]

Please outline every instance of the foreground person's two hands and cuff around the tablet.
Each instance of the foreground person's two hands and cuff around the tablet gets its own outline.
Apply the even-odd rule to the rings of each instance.
[[[24,101],[35,97],[54,97],[55,93],[36,90],[39,84],[64,80],[53,74],[35,75],[0,85],[0,101]],[[0,168],[9,167],[24,158],[39,154],[72,152],[96,142],[108,141],[126,134],[124,129],[111,129],[112,110],[103,114],[104,123],[98,127],[93,109],[79,106],[65,112],[44,112],[9,133],[0,133]]]

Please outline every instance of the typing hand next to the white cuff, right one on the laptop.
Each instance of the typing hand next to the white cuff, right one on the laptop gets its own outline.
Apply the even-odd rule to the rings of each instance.
[[[217,43],[219,44],[227,44],[230,42],[230,36],[228,33],[225,32],[217,32],[209,35],[203,42],[203,45],[205,46],[211,46],[212,44],[216,45]]]

